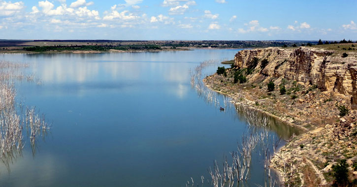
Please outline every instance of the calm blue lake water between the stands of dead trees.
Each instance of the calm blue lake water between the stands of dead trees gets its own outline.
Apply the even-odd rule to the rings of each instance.
[[[17,82],[17,99],[53,124],[34,155],[26,139],[10,171],[0,165],[0,186],[183,187],[208,179],[213,160],[236,150],[247,126],[198,97],[189,69],[237,51],[0,55],[30,64],[25,71],[42,84]],[[295,132],[272,129],[284,138]],[[263,171],[253,161],[255,186]]]

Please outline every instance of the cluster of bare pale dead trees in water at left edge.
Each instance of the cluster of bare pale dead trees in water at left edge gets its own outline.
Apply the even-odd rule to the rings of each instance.
[[[36,137],[43,135],[50,129],[43,116],[39,116],[34,108],[27,108],[25,114],[22,107],[17,107],[15,101],[16,90],[10,81],[28,81],[33,76],[24,76],[22,73],[16,74],[17,68],[27,67],[27,64],[11,63],[0,61],[0,159],[8,165],[16,155],[21,155],[21,150],[26,141],[24,135],[30,137],[31,145],[35,143]],[[24,127],[27,133],[24,133]]]

